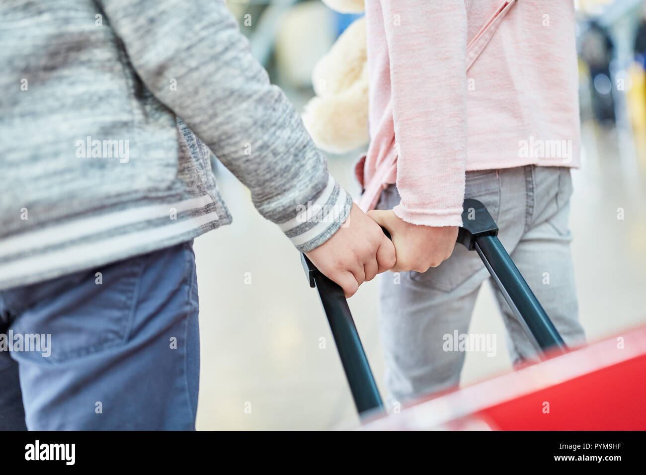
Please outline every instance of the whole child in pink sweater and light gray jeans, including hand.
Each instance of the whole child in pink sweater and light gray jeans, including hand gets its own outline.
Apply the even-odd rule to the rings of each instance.
[[[581,341],[567,226],[579,165],[572,1],[366,0],[366,21],[371,143],[357,176],[404,272],[381,284],[393,395],[459,381],[464,351],[448,339],[467,332],[488,275],[454,249],[464,198],[485,203],[566,343]],[[497,297],[514,361],[534,357]]]

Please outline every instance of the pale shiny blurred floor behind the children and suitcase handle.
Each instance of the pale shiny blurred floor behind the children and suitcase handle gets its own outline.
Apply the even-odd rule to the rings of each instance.
[[[627,167],[612,133],[584,124],[582,137],[584,165],[573,172],[570,227],[580,318],[595,341],[646,324],[646,187],[636,173],[623,178]],[[329,166],[356,198],[351,159],[330,158]],[[202,335],[198,429],[355,424],[328,324],[297,251],[258,215],[233,176],[220,169],[218,181],[234,222],[195,241]],[[618,208],[625,219],[618,220]],[[385,395],[376,280],[349,304]],[[488,286],[478,297],[470,332],[505,334]],[[510,370],[503,337],[497,346],[495,357],[467,355],[463,385]]]

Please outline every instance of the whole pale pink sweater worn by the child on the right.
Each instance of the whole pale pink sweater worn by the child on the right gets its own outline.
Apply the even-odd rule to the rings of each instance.
[[[396,182],[397,216],[460,226],[465,171],[579,165],[572,1],[519,0],[497,21],[507,3],[366,0],[371,142],[357,176],[380,176],[364,209]]]

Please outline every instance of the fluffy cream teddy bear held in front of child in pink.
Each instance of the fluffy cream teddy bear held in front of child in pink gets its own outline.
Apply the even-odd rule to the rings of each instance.
[[[363,0],[322,0],[341,13],[361,13]],[[355,20],[312,72],[316,94],[304,107],[303,122],[317,146],[348,153],[368,143],[368,58],[366,19]]]

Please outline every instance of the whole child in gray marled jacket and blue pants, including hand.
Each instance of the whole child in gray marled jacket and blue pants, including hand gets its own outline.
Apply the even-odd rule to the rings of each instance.
[[[0,333],[54,342],[0,351],[0,427],[20,388],[30,428],[193,427],[190,243],[231,222],[211,152],[346,295],[394,264],[223,1],[6,0],[0,50]]]

